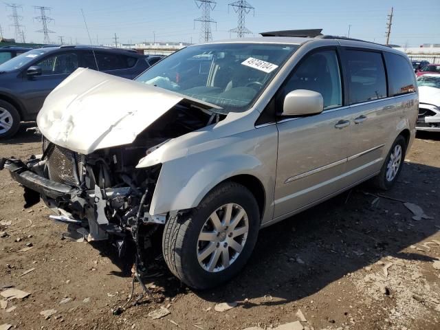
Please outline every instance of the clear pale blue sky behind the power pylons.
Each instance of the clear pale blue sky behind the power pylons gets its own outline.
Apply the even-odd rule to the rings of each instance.
[[[50,39],[58,43],[89,43],[81,8],[85,12],[89,32],[94,44],[111,43],[114,34],[122,43],[142,41],[199,41],[201,10],[193,0],[12,0],[20,5],[26,41],[43,42],[43,34],[36,32],[41,23],[34,19],[39,12],[34,5],[52,8],[47,12],[54,21],[48,23]],[[9,3],[12,3],[9,1]],[[6,0],[8,2],[8,0]],[[212,37],[229,39],[230,29],[237,25],[236,13],[228,10],[231,1],[218,0],[211,12]],[[440,0],[248,0],[255,14],[246,16],[246,27],[257,36],[259,32],[322,28],[323,33],[350,36],[384,43],[387,14],[394,7],[391,43],[418,47],[423,43],[440,43]],[[0,4],[0,25],[5,38],[14,37],[10,8]],[[252,34],[251,34],[252,36]],[[234,34],[232,34],[234,38]]]

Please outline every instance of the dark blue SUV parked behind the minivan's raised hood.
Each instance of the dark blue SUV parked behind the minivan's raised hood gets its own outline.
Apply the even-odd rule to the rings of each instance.
[[[63,45],[30,50],[0,65],[0,138],[21,121],[36,120],[46,96],[78,67],[133,79],[152,64],[148,56],[110,47]]]

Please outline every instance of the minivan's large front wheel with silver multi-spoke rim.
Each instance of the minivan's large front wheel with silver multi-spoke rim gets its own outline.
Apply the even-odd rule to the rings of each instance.
[[[215,287],[243,268],[259,228],[259,207],[252,192],[227,181],[213,188],[197,208],[167,221],[164,259],[189,287]]]

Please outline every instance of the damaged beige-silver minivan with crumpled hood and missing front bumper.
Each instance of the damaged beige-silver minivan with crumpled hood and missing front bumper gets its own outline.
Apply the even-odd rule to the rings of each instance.
[[[275,35],[186,47],[137,81],[77,69],[39,113],[42,154],[0,165],[87,239],[141,264],[163,231],[181,281],[228,281],[260,228],[367,179],[391,188],[415,136],[405,54]]]

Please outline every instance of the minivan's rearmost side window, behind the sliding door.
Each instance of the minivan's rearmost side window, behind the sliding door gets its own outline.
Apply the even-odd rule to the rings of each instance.
[[[406,58],[389,52],[384,52],[384,56],[390,84],[389,96],[398,96],[415,91],[414,72]]]

